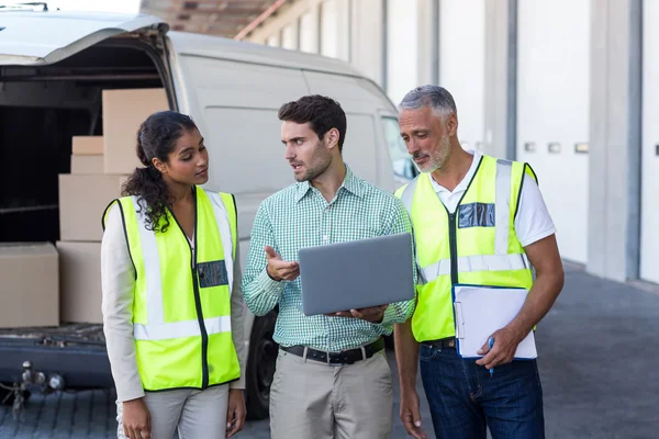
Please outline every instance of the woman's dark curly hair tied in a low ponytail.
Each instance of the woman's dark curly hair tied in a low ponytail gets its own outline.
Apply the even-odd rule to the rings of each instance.
[[[196,130],[192,119],[176,111],[154,113],[142,123],[137,132],[137,157],[145,168],[135,168],[133,175],[124,183],[124,196],[139,198],[139,212],[146,210],[146,228],[154,232],[167,232],[174,200],[169,195],[167,183],[160,171],[153,165],[154,157],[163,162],[169,161],[169,154],[176,142],[186,133]]]

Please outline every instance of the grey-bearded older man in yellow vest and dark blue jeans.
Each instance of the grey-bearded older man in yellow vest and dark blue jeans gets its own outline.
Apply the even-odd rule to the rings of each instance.
[[[412,218],[420,270],[414,315],[394,329],[401,419],[410,435],[425,438],[415,390],[421,360],[438,438],[484,439],[488,427],[494,439],[544,438],[536,360],[514,359],[563,285],[556,229],[537,178],[528,164],[465,150],[456,103],[442,87],[410,91],[399,123],[421,171],[396,191]],[[451,288],[458,283],[528,291],[478,360],[456,350]]]

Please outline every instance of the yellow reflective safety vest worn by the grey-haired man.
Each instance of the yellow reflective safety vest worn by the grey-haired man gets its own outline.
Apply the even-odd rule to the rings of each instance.
[[[482,156],[450,214],[424,172],[400,188],[414,227],[420,272],[412,330],[417,341],[455,337],[451,285],[456,283],[530,289],[530,263],[514,221],[527,164]]]

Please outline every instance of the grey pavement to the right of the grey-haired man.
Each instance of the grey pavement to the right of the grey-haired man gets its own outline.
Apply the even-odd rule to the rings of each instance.
[[[659,290],[568,272],[538,325],[550,438],[659,438]]]

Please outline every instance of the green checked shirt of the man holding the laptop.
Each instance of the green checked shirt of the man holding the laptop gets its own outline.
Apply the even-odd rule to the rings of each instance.
[[[277,282],[266,271],[266,245],[275,248],[282,260],[292,261],[298,260],[298,250],[303,247],[412,233],[410,216],[399,199],[355,177],[347,166],[346,171],[331,203],[309,182],[302,182],[269,196],[256,213],[243,294],[255,315],[267,314],[279,304],[273,339],[282,346],[305,345],[326,351],[353,349],[391,334],[393,324],[405,322],[414,311],[415,301],[390,304],[381,324],[305,316],[301,311],[300,278]]]

